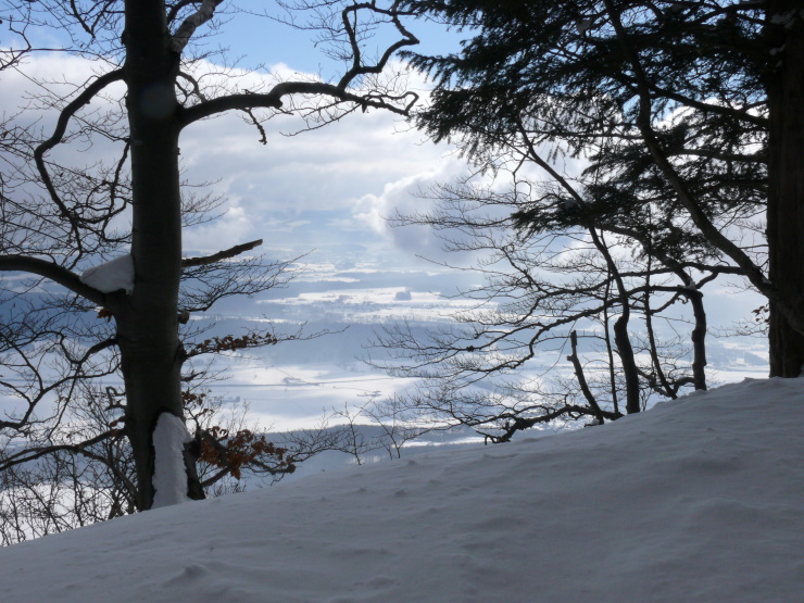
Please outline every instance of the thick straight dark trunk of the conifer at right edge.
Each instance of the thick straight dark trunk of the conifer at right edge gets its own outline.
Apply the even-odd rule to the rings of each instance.
[[[770,282],[804,313],[804,17],[801,0],[768,1],[775,48],[768,75],[770,114],[768,252]],[[804,368],[804,334],[770,302],[770,376],[797,377]]]

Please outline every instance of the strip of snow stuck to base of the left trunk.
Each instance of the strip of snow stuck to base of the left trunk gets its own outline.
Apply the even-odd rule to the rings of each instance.
[[[185,423],[176,415],[162,413],[153,430],[153,448],[156,461],[153,469],[153,507],[189,502],[187,497],[187,472],[185,468],[185,443],[192,440]]]

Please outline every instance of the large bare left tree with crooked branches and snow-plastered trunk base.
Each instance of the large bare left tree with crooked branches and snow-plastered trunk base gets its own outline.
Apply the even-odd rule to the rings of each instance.
[[[310,127],[318,127],[369,109],[405,115],[416,99],[395,89],[393,75],[382,75],[395,51],[417,43],[401,22],[405,13],[399,2],[278,4],[312,12],[319,41],[344,61],[339,78],[280,80],[256,91],[230,80],[205,89],[196,77],[191,49],[204,28],[225,21],[223,0],[2,4],[3,22],[17,34],[20,49],[3,50],[4,66],[24,73],[25,52],[37,49],[18,39],[45,27],[66,40],[58,51],[92,58],[97,75],[72,83],[66,95],[46,97],[40,109],[55,113],[49,131],[39,135],[35,125],[17,125],[14,118],[3,127],[0,271],[10,319],[2,335],[3,352],[16,359],[11,366],[17,378],[2,386],[25,404],[0,419],[0,428],[9,438],[25,437],[45,420],[41,413],[58,419],[65,404],[78,402],[76,384],[120,366],[125,384],[121,432],[134,457],[139,510],[150,508],[154,497],[159,504],[203,497],[196,472],[202,451],[184,427],[181,384],[188,376],[183,366],[193,355],[226,350],[231,342],[200,341],[188,348],[179,328],[192,312],[222,297],[272,286],[286,267],[274,263],[265,271],[264,262],[249,256],[260,241],[209,257],[184,256],[183,222],[204,215],[205,200],[183,194],[181,134],[202,120],[240,111],[265,141],[262,123],[278,114],[297,112]],[[366,35],[378,27],[394,36],[373,54]],[[40,83],[40,89],[47,91],[47,84]],[[76,169],[55,156],[62,146],[92,137],[114,143],[116,159]],[[17,275],[23,275],[20,281]],[[221,287],[222,278],[228,285]],[[110,319],[108,327],[96,314]],[[64,321],[66,315],[72,319]],[[274,337],[257,336],[246,346],[269,343]],[[55,362],[53,355],[63,369],[55,380],[42,364],[45,359]],[[156,429],[164,434],[154,442]],[[186,483],[158,492],[155,467],[186,476],[179,480]]]

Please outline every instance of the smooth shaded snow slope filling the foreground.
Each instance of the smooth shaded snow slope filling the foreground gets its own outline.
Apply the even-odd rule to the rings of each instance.
[[[804,379],[0,549],[2,601],[797,602]]]

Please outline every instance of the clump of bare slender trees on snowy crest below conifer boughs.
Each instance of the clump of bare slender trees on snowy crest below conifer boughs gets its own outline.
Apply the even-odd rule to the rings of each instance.
[[[669,228],[661,224],[631,229],[574,215],[575,226],[551,228],[549,221],[566,212],[560,208],[545,226],[520,229],[517,212],[547,206],[560,193],[571,196],[577,214],[585,204],[579,183],[552,167],[552,183],[526,178],[527,162],[541,161],[535,152],[526,147],[524,155],[497,155],[494,163],[487,155],[495,187],[441,185],[422,192],[435,211],[393,219],[400,227],[435,228],[448,251],[480,254],[472,267],[451,266],[470,269],[481,281],[457,293],[476,309],[457,313],[455,327],[422,338],[399,324],[377,336],[376,346],[391,360],[375,366],[422,379],[403,398],[405,420],[465,425],[498,442],[542,424],[613,420],[644,409],[651,397],[706,388],[702,289],[738,271],[706,263],[702,254],[682,259],[651,249],[657,231]],[[518,169],[508,190],[499,186],[506,162]],[[691,315],[680,311],[682,304]],[[522,375],[551,354],[551,362],[566,357],[569,365]]]

